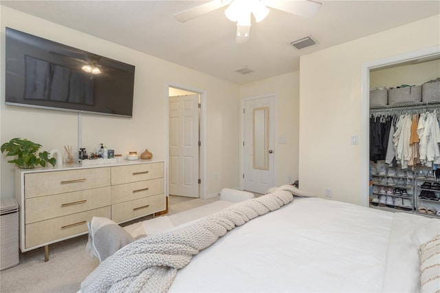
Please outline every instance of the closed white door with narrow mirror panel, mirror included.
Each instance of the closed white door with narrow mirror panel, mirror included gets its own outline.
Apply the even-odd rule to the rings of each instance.
[[[273,96],[244,102],[243,189],[246,191],[264,194],[274,187],[273,111]]]

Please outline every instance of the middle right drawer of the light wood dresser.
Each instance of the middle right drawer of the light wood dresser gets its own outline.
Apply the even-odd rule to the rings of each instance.
[[[111,204],[164,193],[164,178],[111,186]]]

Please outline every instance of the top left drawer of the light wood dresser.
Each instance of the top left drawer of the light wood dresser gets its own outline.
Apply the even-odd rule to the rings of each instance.
[[[27,199],[110,186],[110,168],[30,173],[24,183]]]

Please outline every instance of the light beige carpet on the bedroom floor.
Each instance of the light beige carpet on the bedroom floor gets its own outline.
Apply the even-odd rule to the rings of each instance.
[[[168,215],[209,204],[212,199],[170,197]],[[142,221],[148,217],[137,219]],[[130,223],[127,223],[130,224]],[[80,283],[98,266],[85,251],[87,235],[49,246],[49,261],[44,262],[44,248],[20,254],[20,264],[0,272],[0,292],[78,292]],[[0,260],[1,261],[1,260]]]

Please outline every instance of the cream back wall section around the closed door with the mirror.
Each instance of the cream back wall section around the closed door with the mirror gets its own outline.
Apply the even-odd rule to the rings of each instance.
[[[292,181],[298,180],[299,76],[299,72],[291,72],[240,87],[241,99],[266,94],[276,96],[276,117],[274,117],[276,186],[287,184],[288,177],[292,177]],[[286,144],[278,144],[278,138],[286,138]]]

